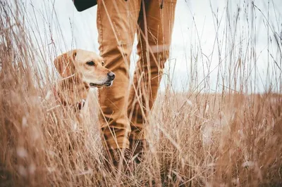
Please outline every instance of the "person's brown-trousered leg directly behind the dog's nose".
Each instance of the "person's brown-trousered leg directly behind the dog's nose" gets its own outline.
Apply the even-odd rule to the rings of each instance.
[[[116,74],[109,88],[99,89],[99,122],[108,150],[128,148],[130,124],[127,117],[129,60],[137,30],[140,1],[99,0],[97,28],[99,51],[105,66]]]

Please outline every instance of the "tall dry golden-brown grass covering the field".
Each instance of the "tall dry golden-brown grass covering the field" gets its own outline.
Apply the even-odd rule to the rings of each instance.
[[[167,88],[149,119],[146,162],[132,175],[111,176],[102,164],[97,118],[90,115],[97,110],[87,108],[79,123],[56,103],[54,79],[42,84],[18,18],[20,12],[1,4],[0,186],[282,185],[282,96],[271,91]]]

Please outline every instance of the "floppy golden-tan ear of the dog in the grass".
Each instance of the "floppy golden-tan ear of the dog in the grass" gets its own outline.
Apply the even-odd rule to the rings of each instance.
[[[66,78],[75,73],[75,56],[77,51],[69,51],[61,54],[54,60],[54,65],[61,77]]]

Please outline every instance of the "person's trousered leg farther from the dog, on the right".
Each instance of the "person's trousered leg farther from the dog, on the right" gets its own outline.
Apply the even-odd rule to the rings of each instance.
[[[135,153],[145,146],[144,124],[157,97],[164,63],[168,59],[175,7],[176,0],[145,1],[141,5],[137,44],[140,58],[128,103],[130,144]]]

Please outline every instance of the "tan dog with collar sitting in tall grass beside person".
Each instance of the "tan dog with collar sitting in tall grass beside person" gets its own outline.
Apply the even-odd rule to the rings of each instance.
[[[54,65],[63,78],[54,92],[63,105],[81,109],[90,88],[111,86],[115,74],[104,67],[103,58],[92,51],[75,49],[58,56]]]

